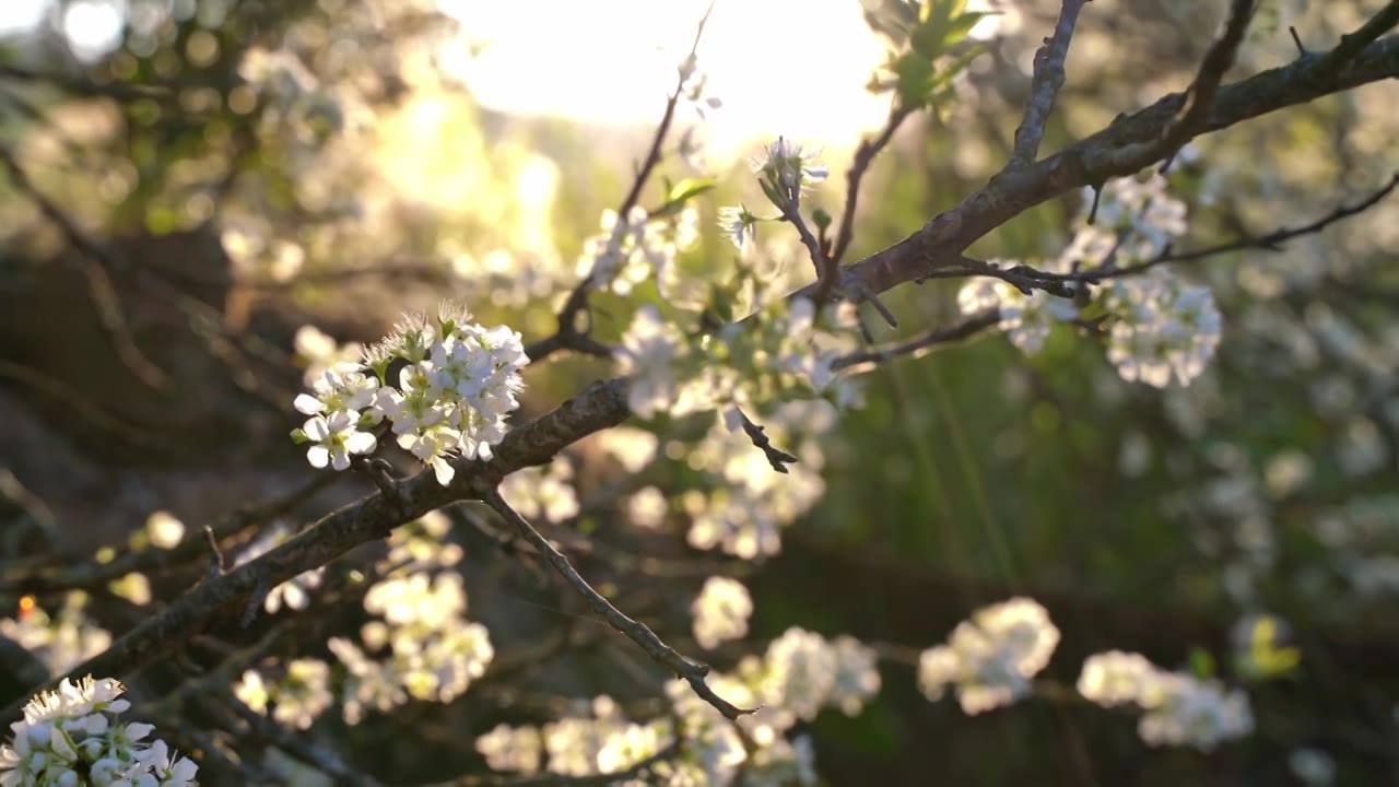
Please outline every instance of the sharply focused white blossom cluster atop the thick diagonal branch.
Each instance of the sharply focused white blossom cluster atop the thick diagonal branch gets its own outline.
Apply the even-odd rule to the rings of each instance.
[[[490,459],[491,445],[505,438],[505,416],[519,406],[519,371],[529,358],[519,333],[470,316],[448,304],[432,318],[407,315],[365,349],[364,364],[334,364],[315,382],[315,395],[298,395],[297,410],[311,417],[292,437],[312,444],[311,464],[348,468],[351,455],[375,450],[368,429],[382,422],[442,485],[456,472],[450,457]],[[382,384],[399,361],[399,385]]]

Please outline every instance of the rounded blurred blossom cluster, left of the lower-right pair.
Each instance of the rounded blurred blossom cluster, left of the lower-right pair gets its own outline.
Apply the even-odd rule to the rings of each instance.
[[[918,662],[918,685],[929,700],[947,688],[967,714],[1014,703],[1030,693],[1030,679],[1049,664],[1059,629],[1044,606],[1011,598],[978,609],[953,630],[947,644],[925,650]]]

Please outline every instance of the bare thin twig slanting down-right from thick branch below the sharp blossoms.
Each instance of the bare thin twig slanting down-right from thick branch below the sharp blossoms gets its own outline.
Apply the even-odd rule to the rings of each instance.
[[[564,577],[564,581],[567,581],[574,591],[583,597],[593,612],[607,620],[613,629],[617,629],[625,634],[627,639],[641,646],[641,650],[646,651],[646,655],[649,655],[652,661],[665,667],[677,678],[687,681],[694,693],[713,706],[725,716],[725,718],[734,720],[740,716],[755,713],[755,710],[740,709],[716,695],[705,682],[705,676],[709,674],[709,668],[706,665],[680,655],[674,648],[662,641],[655,632],[646,627],[645,623],[628,618],[620,609],[613,606],[610,601],[603,598],[600,592],[593,590],[593,587],[588,584],[588,580],[585,580],[578,570],[574,569],[574,564],[569,563],[568,557],[564,556],[562,552],[554,549],[554,545],[550,543],[547,538],[540,535],[540,532],[536,531],[534,527],[525,520],[525,517],[512,508],[509,503],[501,497],[501,493],[497,489],[484,487],[480,489],[478,493],[483,503],[494,508],[502,520],[519,531],[525,541],[532,543],[534,549],[539,549],[540,553],[544,555],[550,564],[554,566],[554,570]]]

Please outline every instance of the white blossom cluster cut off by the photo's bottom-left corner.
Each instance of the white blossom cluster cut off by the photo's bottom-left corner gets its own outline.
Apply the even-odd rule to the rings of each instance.
[[[24,706],[0,745],[0,787],[192,787],[199,766],[165,741],[147,741],[151,724],[119,721],[132,707],[111,678],[64,678],[57,690]]]

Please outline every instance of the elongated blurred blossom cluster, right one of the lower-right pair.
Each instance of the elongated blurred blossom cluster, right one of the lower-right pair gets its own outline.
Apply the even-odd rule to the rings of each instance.
[[[1137,734],[1153,746],[1185,745],[1207,752],[1254,731],[1254,714],[1242,690],[1167,672],[1136,653],[1090,655],[1079,676],[1079,693],[1105,707],[1142,707],[1146,713]]]

